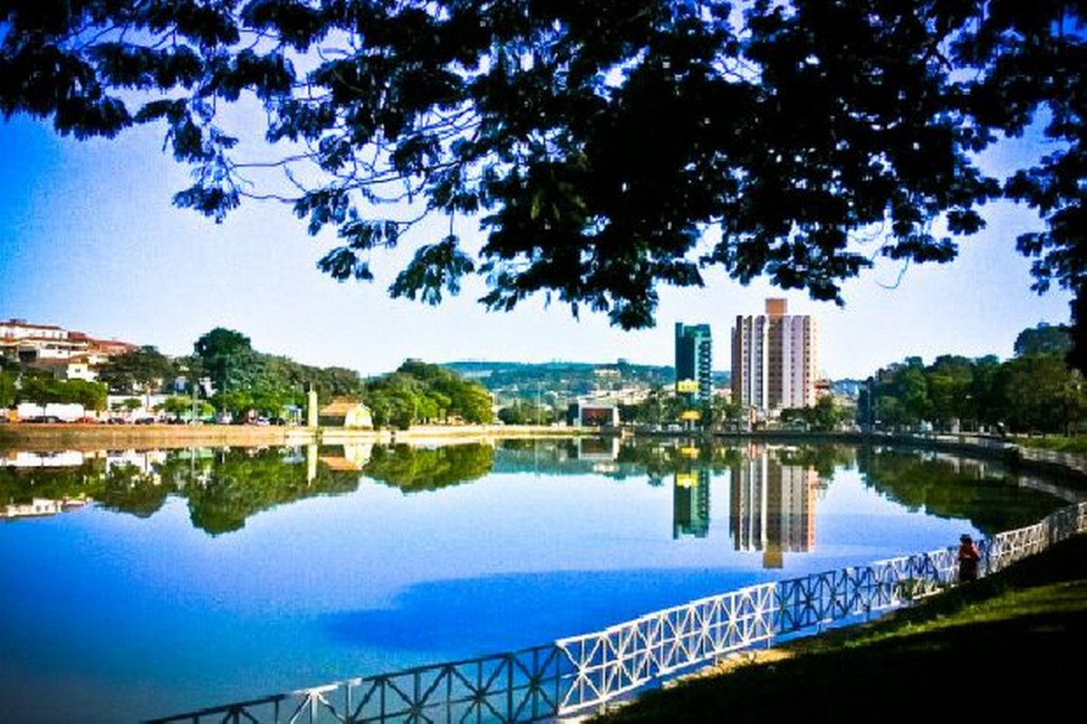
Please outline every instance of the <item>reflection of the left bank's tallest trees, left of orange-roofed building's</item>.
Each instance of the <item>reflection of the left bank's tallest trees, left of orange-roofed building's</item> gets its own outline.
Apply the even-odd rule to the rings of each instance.
[[[236,531],[249,516],[277,505],[349,493],[359,485],[357,474],[327,470],[308,482],[305,466],[288,462],[277,448],[222,450],[203,472],[210,473],[207,479],[191,481],[184,492],[192,524],[212,534]]]

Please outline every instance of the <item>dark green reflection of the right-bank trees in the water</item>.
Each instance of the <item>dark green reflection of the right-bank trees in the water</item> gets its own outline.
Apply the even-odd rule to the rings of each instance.
[[[986,534],[1029,525],[1053,511],[1052,496],[1012,484],[979,463],[923,455],[867,448],[858,467],[865,484],[891,500],[940,518],[964,518]]]

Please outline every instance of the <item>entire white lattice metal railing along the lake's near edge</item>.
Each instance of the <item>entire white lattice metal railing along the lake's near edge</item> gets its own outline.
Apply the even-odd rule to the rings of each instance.
[[[1087,531],[1087,503],[980,542],[988,575]],[[955,547],[694,600],[508,653],[332,682],[151,720],[562,722],[723,657],[869,620],[958,583]]]

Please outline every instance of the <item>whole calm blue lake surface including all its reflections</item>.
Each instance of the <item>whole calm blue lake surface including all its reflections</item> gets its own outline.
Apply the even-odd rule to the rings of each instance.
[[[1067,501],[852,447],[0,453],[0,721],[134,722],[533,646]]]

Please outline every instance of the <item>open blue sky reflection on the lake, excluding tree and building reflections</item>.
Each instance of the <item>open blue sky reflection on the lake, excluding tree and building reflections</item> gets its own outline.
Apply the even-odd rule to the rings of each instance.
[[[218,536],[179,498],[148,519],[8,522],[0,720],[134,721],[533,646],[973,530],[909,513],[846,470],[815,496],[813,549],[766,569],[762,551],[734,549],[727,473],[711,481],[704,538],[673,538],[665,481],[495,473],[405,495],[363,479]]]

